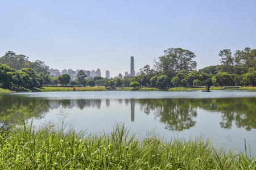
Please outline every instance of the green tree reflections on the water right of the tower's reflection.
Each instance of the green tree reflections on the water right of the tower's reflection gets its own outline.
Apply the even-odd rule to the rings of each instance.
[[[181,131],[195,126],[197,108],[221,113],[221,128],[256,129],[256,98],[218,99],[140,99],[141,110],[146,114],[154,112],[166,129]]]

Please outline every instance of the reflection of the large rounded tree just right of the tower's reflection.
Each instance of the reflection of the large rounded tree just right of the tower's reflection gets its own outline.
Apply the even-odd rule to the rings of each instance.
[[[196,125],[194,118],[197,116],[196,104],[184,99],[141,99],[141,109],[146,114],[154,111],[159,121],[166,125],[166,129],[182,131]]]

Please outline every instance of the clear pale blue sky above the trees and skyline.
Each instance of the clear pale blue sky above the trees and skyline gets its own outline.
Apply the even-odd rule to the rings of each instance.
[[[256,1],[0,1],[0,56],[9,50],[50,68],[130,73],[168,48],[196,54],[197,69],[223,49],[256,48]]]

